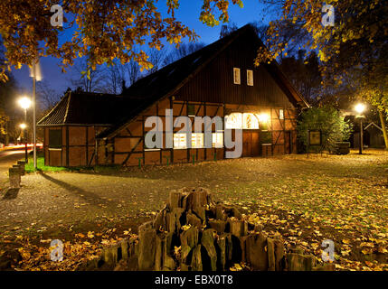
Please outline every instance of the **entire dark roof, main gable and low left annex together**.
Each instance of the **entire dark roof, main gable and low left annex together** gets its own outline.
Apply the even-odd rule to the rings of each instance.
[[[38,126],[100,125],[110,126],[98,138],[117,135],[139,114],[153,106],[156,101],[174,95],[187,81],[213,61],[243,33],[251,33],[252,42],[260,41],[250,24],[241,27],[230,35],[203,47],[199,51],[175,61],[161,70],[138,79],[121,96],[85,92],[68,92],[52,111],[43,117]],[[283,89],[291,103],[308,107],[308,103],[292,87],[289,80],[279,70],[276,62],[264,64]]]

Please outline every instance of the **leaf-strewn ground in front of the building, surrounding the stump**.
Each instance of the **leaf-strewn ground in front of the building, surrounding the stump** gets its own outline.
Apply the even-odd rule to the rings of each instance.
[[[266,234],[280,233],[287,247],[320,258],[322,240],[332,239],[337,269],[388,270],[388,152],[365,153],[29,175],[18,201],[33,195],[39,182],[39,188],[52,188],[44,193],[57,211],[39,215],[38,227],[25,212],[19,216],[23,224],[2,227],[0,221],[3,245],[22,246],[24,269],[75,269],[101,246],[136,233],[139,223],[161,209],[168,191],[201,186],[214,199],[239,206]],[[46,205],[43,191],[34,198],[42,198],[38,206]],[[7,211],[17,214],[14,208]],[[65,241],[68,257],[62,265],[48,261],[47,240],[53,238]]]

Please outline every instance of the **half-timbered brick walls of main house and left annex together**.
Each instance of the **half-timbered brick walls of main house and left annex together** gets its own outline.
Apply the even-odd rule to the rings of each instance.
[[[152,129],[145,127],[147,117],[157,116],[163,120],[166,126],[166,108],[173,109],[175,117],[187,116],[187,105],[194,105],[196,117],[222,117],[232,112],[266,113],[270,116],[269,130],[272,135],[270,150],[260,151],[260,155],[296,154],[296,109],[284,107],[255,107],[232,104],[216,104],[207,102],[194,102],[173,100],[166,98],[157,102],[146,113],[136,117],[128,126],[121,130],[118,135],[101,139],[96,143],[96,135],[104,126],[46,126],[44,127],[44,163],[52,166],[92,166],[95,164],[121,164],[134,166],[144,164],[166,163],[192,163],[206,160],[221,160],[225,157],[224,148],[190,148],[190,149],[144,149],[144,140],[147,131]],[[279,119],[279,109],[284,111],[284,119]],[[194,125],[194,117],[191,117]],[[62,131],[62,147],[50,148],[49,130]],[[181,128],[174,128],[174,133]],[[244,130],[245,131],[245,130]],[[260,135],[260,130],[257,131]],[[194,132],[194,126],[193,126]],[[214,132],[214,127],[213,127]],[[286,132],[290,133],[290,148],[286,147]],[[165,133],[163,141],[165,141]],[[97,151],[96,154],[96,144]],[[165,145],[165,144],[164,144]]]

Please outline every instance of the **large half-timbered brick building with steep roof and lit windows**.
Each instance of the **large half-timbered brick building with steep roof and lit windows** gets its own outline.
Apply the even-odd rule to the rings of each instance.
[[[225,157],[224,128],[242,129],[242,156],[297,152],[298,111],[307,102],[292,87],[277,63],[253,61],[263,45],[254,29],[238,31],[137,80],[121,95],[72,92],[64,95],[38,123],[44,129],[47,165],[167,164],[219,160]],[[147,148],[147,117],[166,125],[173,117],[221,117],[213,127],[213,147],[202,133],[186,135],[174,128],[170,148]],[[194,131],[194,128],[193,128]]]

